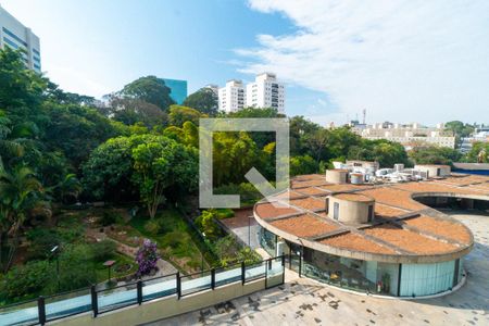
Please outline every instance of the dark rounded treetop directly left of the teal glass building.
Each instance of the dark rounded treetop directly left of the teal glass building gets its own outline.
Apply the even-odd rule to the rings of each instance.
[[[165,86],[162,79],[155,76],[146,76],[127,84],[116,92],[116,96],[141,100],[166,111],[170,105],[174,104],[170,92],[171,89]]]

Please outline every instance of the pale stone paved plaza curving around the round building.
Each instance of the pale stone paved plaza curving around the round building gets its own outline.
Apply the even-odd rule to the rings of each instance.
[[[474,233],[467,284],[438,299],[378,299],[287,271],[286,284],[151,325],[489,325],[489,216],[454,214]]]

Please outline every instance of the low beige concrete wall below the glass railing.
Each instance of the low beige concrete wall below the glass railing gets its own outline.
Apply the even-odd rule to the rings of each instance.
[[[279,274],[269,277],[267,283],[268,285],[277,285],[281,284],[281,279],[283,275]],[[215,290],[208,290],[184,297],[180,300],[178,300],[176,296],[171,296],[163,299],[143,302],[141,305],[136,304],[115,310],[110,313],[98,315],[96,318],[92,317],[91,313],[87,313],[73,316],[71,318],[61,319],[58,323],[68,326],[139,325],[214,305],[263,289],[265,289],[265,279],[250,281],[244,285],[241,285],[241,283],[235,283],[218,287]]]

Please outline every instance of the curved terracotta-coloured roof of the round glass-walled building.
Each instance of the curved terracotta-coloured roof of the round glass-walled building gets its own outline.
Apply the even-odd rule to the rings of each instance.
[[[346,184],[341,192],[335,192],[335,185],[327,184],[322,175],[300,178],[314,180],[314,186],[288,190],[296,198],[302,196],[300,200],[286,201],[287,197],[279,193],[268,198],[269,202],[256,203],[258,223],[291,242],[359,260],[435,263],[463,256],[474,244],[471,230],[413,197],[436,193],[489,201],[489,177],[486,176],[471,176],[465,181],[460,177],[447,177],[425,183],[365,185],[361,189]],[[459,186],[461,184],[463,187]],[[313,189],[327,190],[334,198],[343,200],[375,200],[373,224],[352,226],[327,217],[325,205],[311,205],[310,201],[324,200],[324,197],[311,195],[316,193]]]

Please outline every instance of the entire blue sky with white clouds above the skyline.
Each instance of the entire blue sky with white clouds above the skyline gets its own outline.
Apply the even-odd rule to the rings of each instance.
[[[489,122],[489,1],[0,0],[42,71],[100,97],[146,75],[189,92],[274,72],[286,113],[326,125]]]

